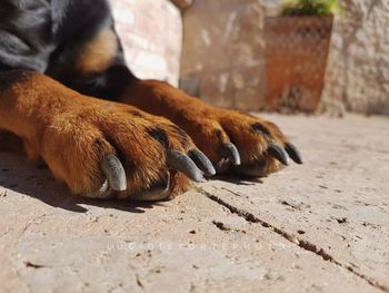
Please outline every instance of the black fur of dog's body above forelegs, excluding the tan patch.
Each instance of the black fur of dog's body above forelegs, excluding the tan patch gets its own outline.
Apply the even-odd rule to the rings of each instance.
[[[136,79],[126,66],[119,38],[117,56],[107,70],[87,76],[72,68],[80,48],[102,29],[114,32],[113,25],[107,0],[1,0],[0,70],[42,72],[79,92],[117,100]]]

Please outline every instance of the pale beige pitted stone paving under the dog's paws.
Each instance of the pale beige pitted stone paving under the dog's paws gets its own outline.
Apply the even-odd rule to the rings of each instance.
[[[389,119],[269,118],[303,166],[157,205],[74,198],[0,154],[0,291],[389,292]]]

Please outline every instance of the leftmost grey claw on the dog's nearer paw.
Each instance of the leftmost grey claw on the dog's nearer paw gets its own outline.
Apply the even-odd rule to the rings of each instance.
[[[108,155],[103,157],[100,166],[113,191],[123,192],[127,189],[126,172],[117,156]]]

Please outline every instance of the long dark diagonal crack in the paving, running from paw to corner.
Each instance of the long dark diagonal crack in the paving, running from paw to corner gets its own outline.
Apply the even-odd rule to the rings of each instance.
[[[250,223],[257,223],[260,224],[262,227],[266,228],[270,228],[271,231],[273,231],[275,233],[277,233],[278,235],[282,236],[283,238],[286,238],[287,241],[298,245],[300,248],[305,250],[305,251],[309,251],[315,253],[316,255],[320,256],[320,258],[322,258],[323,261],[333,263],[335,265],[346,268],[348,272],[352,273],[353,275],[358,276],[359,279],[366,281],[368,284],[370,284],[371,286],[381,290],[382,292],[389,293],[389,287],[381,284],[379,281],[375,280],[373,277],[370,277],[368,275],[365,275],[362,273],[357,272],[352,266],[347,265],[341,263],[340,261],[336,260],[332,255],[330,255],[329,253],[327,253],[323,248],[319,247],[318,245],[316,245],[315,243],[311,243],[309,241],[299,238],[298,236],[290,234],[259,217],[257,217],[256,215],[253,215],[250,212],[247,212],[245,209],[241,209],[239,207],[236,207],[229,203],[227,203],[226,201],[223,201],[222,198],[202,189],[201,187],[198,187],[197,191],[207,196],[209,199],[213,201],[215,203],[228,208],[232,214],[236,214],[242,218],[245,218],[247,222]]]

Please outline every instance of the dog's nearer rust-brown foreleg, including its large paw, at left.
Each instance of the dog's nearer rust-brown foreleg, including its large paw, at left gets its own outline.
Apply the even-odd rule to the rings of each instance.
[[[31,71],[0,72],[0,129],[20,137],[28,156],[43,158],[71,192],[89,197],[162,199],[188,188],[188,177],[212,173],[169,120]]]

